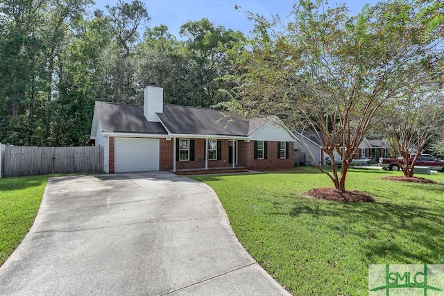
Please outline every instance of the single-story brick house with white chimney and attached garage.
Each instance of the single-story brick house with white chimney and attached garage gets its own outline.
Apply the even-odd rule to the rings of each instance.
[[[293,141],[278,117],[164,104],[162,88],[146,87],[144,107],[96,102],[90,143],[104,147],[106,173],[123,173],[293,168]]]

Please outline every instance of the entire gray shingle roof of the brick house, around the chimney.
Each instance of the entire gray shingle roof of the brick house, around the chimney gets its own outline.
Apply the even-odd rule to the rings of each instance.
[[[164,112],[157,113],[162,123],[146,121],[143,107],[96,102],[96,110],[103,132],[146,134],[196,134],[248,137],[269,119],[241,119],[226,116],[219,110],[164,104]]]

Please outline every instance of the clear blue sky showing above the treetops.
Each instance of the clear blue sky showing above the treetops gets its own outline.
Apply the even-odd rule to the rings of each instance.
[[[131,0],[123,0],[131,2]],[[245,34],[253,28],[253,22],[248,21],[245,12],[251,11],[271,17],[279,15],[285,19],[293,4],[298,0],[142,0],[148,9],[151,20],[148,26],[153,28],[160,24],[169,27],[170,33],[178,37],[180,26],[187,21],[198,21],[203,17],[210,19],[216,26],[225,26],[233,30],[242,31]],[[371,5],[376,0],[349,0],[329,1],[330,6],[336,3],[347,3],[352,13],[357,13],[366,3]],[[117,0],[96,0],[96,8],[104,9],[105,5],[115,6]],[[240,6],[241,10],[235,10],[234,5]]]

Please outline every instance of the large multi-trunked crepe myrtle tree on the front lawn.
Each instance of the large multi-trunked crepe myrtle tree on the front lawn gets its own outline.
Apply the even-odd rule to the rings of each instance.
[[[314,131],[332,171],[316,166],[344,192],[353,155],[383,118],[382,107],[412,84],[436,79],[413,73],[438,69],[442,10],[441,2],[402,0],[350,16],[345,6],[299,1],[286,24],[249,12],[255,31],[244,50],[234,52],[237,87],[225,107],[246,116],[278,114],[291,128]],[[341,155],[341,170],[334,153]]]

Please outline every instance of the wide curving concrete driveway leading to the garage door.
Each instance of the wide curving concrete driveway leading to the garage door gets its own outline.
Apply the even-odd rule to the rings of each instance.
[[[167,172],[52,177],[0,295],[289,295],[212,189]]]

